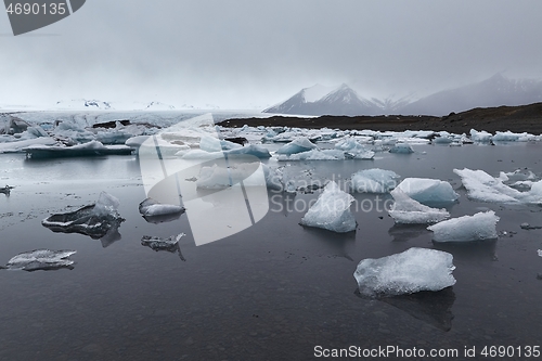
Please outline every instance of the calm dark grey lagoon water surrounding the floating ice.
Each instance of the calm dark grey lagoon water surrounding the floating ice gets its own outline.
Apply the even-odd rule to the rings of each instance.
[[[16,188],[9,197],[0,194],[0,265],[36,248],[77,254],[73,270],[0,271],[0,359],[307,360],[315,346],[396,346],[457,349],[457,357],[442,359],[462,360],[468,359],[465,347],[480,352],[501,345],[515,348],[507,359],[525,359],[518,347],[542,345],[542,230],[519,224],[541,224],[542,208],[470,202],[452,169],[496,176],[528,167],[540,175],[542,144],[414,147],[415,154],[377,154],[372,162],[292,163],[287,171],[340,181],[378,167],[403,178],[449,180],[461,194],[449,208],[452,217],[495,210],[498,241],[435,245],[424,227],[393,225],[382,209],[358,210],[357,232],[334,234],[300,227],[304,212],[278,209],[317,193],[289,201],[279,195],[255,227],[196,247],[185,215],[159,224],[139,215],[145,194],[136,157],[29,162],[1,155],[0,184]],[[120,199],[127,220],[118,241],[103,247],[41,225],[52,212],[94,202],[101,191]],[[357,204],[375,201],[356,197]],[[186,233],[180,241],[185,261],[141,245],[143,235],[179,232]],[[453,254],[457,283],[386,301],[356,295],[352,274],[361,259],[413,246]]]

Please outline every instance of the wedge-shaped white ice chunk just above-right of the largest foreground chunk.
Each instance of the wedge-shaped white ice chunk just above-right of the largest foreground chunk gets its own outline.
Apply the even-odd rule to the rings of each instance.
[[[429,225],[435,242],[467,242],[494,240],[498,237],[499,217],[492,210],[474,216],[463,216]]]

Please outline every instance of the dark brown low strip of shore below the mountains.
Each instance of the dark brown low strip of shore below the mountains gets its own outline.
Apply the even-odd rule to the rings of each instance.
[[[296,127],[296,128],[338,128],[341,130],[434,130],[451,133],[468,133],[470,129],[495,131],[528,132],[542,134],[542,103],[520,106],[499,106],[474,108],[448,116],[328,116],[292,117],[272,116],[269,118],[232,118],[220,123],[220,126],[238,128],[251,127]]]

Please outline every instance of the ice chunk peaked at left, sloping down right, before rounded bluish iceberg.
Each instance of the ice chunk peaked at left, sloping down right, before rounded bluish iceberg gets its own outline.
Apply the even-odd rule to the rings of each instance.
[[[400,189],[391,191],[391,196],[396,203],[388,212],[396,223],[436,223],[450,218],[448,210],[425,206]]]

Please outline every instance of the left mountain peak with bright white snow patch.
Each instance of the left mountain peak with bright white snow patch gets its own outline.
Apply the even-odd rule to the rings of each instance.
[[[338,88],[315,85],[301,89],[285,102],[264,109],[264,113],[302,115],[360,115],[377,114],[378,106],[360,96],[343,83]]]

